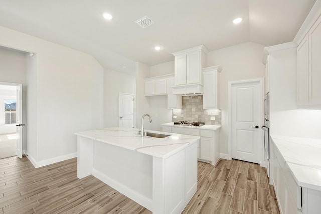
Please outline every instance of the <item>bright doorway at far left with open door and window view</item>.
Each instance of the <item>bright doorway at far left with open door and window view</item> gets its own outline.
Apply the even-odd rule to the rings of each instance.
[[[0,159],[22,158],[21,88],[21,84],[0,82]]]

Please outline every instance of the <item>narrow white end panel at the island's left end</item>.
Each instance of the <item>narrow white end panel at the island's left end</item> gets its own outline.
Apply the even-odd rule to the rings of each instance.
[[[77,136],[77,177],[79,179],[92,174],[93,140]]]

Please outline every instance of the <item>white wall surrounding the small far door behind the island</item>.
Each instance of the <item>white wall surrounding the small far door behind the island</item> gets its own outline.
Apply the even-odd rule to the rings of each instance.
[[[118,93],[136,94],[136,78],[104,70],[104,127],[118,127]],[[135,123],[135,122],[134,122]]]

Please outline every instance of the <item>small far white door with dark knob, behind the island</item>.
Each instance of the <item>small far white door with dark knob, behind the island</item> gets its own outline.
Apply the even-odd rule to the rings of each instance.
[[[134,95],[119,93],[118,126],[134,128]]]

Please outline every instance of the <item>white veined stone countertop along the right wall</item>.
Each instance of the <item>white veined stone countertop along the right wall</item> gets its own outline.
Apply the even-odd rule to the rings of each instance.
[[[299,186],[321,191],[321,139],[273,136]]]

